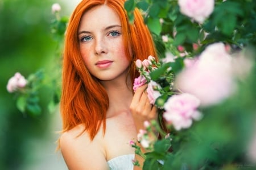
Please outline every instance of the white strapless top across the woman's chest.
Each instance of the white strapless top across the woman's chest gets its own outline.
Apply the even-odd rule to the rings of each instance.
[[[135,155],[122,155],[108,161],[111,170],[133,170],[133,159]]]

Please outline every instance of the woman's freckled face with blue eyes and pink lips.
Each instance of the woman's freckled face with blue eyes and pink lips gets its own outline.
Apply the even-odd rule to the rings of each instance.
[[[106,5],[93,7],[82,16],[78,34],[82,59],[93,76],[102,81],[127,76],[130,61],[115,11]]]

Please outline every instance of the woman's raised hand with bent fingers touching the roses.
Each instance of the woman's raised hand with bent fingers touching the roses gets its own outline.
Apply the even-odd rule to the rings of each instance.
[[[156,119],[156,107],[151,105],[146,92],[147,85],[139,87],[133,96],[131,101],[130,110],[133,114],[134,123],[137,131],[144,129],[144,121],[151,121]]]

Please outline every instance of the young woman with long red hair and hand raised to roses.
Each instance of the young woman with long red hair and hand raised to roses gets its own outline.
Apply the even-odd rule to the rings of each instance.
[[[137,169],[129,142],[156,118],[146,86],[132,90],[135,60],[156,57],[154,43],[138,9],[129,23],[124,2],[84,0],[69,20],[59,140],[69,169]]]

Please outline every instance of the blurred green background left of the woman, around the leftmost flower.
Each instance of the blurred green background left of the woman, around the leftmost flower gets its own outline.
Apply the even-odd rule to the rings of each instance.
[[[40,68],[51,72],[57,47],[51,6],[60,3],[61,15],[69,16],[78,2],[0,0],[0,169],[67,169],[55,151],[61,120],[58,111],[47,111],[51,90],[42,90],[42,114],[31,117],[16,109],[6,85],[15,72],[24,77]]]

